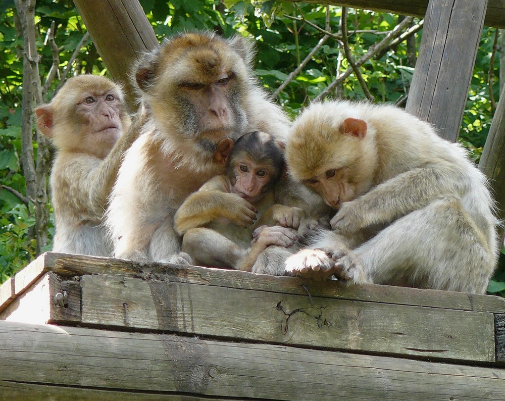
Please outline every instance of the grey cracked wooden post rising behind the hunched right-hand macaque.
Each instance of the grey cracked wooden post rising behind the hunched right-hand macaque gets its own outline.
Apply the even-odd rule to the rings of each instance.
[[[487,0],[430,0],[406,110],[458,139]]]

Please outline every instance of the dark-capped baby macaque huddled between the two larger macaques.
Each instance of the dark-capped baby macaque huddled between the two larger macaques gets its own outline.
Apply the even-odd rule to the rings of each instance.
[[[301,210],[274,205],[274,184],[283,171],[283,150],[272,135],[255,131],[237,139],[227,174],[207,181],[175,214],[182,250],[193,263],[252,271],[267,246],[293,245]],[[262,225],[267,210],[294,229]]]

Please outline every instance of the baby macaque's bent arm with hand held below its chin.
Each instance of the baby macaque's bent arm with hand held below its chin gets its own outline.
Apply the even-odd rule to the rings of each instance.
[[[175,229],[179,235],[201,227],[218,217],[242,226],[256,220],[256,208],[235,193],[226,176],[216,176],[198,191],[189,195],[175,214]]]

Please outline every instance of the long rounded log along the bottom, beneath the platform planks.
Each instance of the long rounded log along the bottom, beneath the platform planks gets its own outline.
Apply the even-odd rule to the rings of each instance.
[[[4,381],[247,399],[503,400],[505,370],[0,322]]]

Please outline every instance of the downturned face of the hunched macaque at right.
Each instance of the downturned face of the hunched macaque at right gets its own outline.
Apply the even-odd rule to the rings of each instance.
[[[328,206],[338,210],[342,203],[357,196],[357,185],[352,182],[352,176],[350,168],[330,168],[305,183],[319,193]]]

